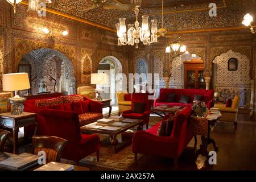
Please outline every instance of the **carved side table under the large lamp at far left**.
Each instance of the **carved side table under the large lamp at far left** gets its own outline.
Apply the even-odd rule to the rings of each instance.
[[[19,127],[26,126],[30,123],[36,123],[35,134],[38,127],[36,122],[36,113],[23,112],[19,115],[13,115],[11,113],[0,114],[0,126],[13,129],[13,152],[17,154],[18,151],[18,132]]]

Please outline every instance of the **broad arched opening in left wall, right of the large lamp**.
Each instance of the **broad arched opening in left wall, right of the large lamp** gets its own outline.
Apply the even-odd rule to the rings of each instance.
[[[71,60],[63,53],[49,48],[33,50],[22,57],[18,72],[27,72],[30,77],[30,93],[39,92],[40,82],[46,82],[48,92],[76,93],[75,70]],[[20,94],[26,94],[24,90]]]

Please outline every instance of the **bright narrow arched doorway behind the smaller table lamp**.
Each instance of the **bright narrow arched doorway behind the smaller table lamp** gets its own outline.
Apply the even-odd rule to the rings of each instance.
[[[115,79],[119,73],[122,73],[122,64],[116,57],[106,56],[98,65],[98,73],[106,73],[109,76],[109,85],[105,88],[105,92],[101,93],[102,98],[112,99],[112,103],[115,103],[115,91],[122,90],[122,79]],[[97,88],[98,86],[100,85],[97,85]]]

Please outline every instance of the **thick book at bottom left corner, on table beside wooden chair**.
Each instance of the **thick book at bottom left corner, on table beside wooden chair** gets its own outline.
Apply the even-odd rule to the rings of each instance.
[[[22,171],[37,165],[38,159],[38,155],[23,153],[2,160],[0,162],[0,168],[12,171]]]

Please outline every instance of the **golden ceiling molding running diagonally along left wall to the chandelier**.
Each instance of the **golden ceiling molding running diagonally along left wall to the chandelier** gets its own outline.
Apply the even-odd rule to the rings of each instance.
[[[20,5],[28,7],[28,2],[27,1],[22,1],[20,3]],[[102,25],[100,23],[94,23],[94,22],[91,22],[91,21],[86,20],[84,18],[79,18],[78,16],[74,16],[74,15],[70,15],[70,14],[67,14],[67,13],[63,13],[61,11],[57,11],[57,10],[51,9],[49,7],[46,8],[46,12],[49,13],[49,14],[58,15],[58,16],[61,16],[61,17],[64,17],[64,18],[68,18],[68,19],[71,19],[71,20],[76,20],[77,22],[80,22],[80,23],[89,24],[90,26],[101,28],[101,29],[106,30],[106,31],[117,32],[114,28],[110,28],[108,26],[104,26],[104,25]]]

